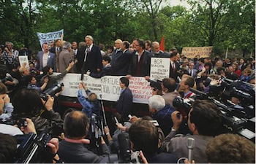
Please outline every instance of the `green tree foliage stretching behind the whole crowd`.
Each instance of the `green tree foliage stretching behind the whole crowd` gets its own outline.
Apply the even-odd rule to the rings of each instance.
[[[39,50],[37,32],[64,29],[64,40],[96,44],[135,37],[172,47],[255,50],[255,0],[187,0],[191,9],[161,7],[165,0],[0,0],[0,43]],[[170,1],[171,3],[171,1]]]

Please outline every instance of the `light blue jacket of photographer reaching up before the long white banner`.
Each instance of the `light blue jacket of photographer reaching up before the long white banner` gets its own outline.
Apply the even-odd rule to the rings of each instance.
[[[89,90],[86,90],[86,94],[89,94]],[[100,104],[99,101],[90,102],[87,98],[83,96],[82,90],[78,90],[78,101],[83,106],[82,112],[86,114],[88,118],[91,118],[91,115],[97,114],[97,117],[100,115]]]

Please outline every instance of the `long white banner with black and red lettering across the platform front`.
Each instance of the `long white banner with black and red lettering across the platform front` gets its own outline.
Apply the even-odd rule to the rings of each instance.
[[[59,74],[59,73],[54,73]],[[102,100],[118,101],[121,93],[119,79],[121,77],[105,76],[100,79],[95,79],[88,75],[84,75],[83,82],[91,92],[102,95]],[[80,83],[80,74],[67,74],[59,81],[64,83],[64,90],[61,95],[69,97],[78,96],[78,85]],[[133,102],[139,104],[147,104],[148,98],[151,97],[152,91],[149,82],[144,77],[131,77],[129,79],[129,89],[132,91]],[[83,91],[83,94],[86,93]]]

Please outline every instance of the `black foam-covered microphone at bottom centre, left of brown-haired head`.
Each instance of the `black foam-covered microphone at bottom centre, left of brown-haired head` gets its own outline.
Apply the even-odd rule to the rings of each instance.
[[[124,136],[124,134],[118,135],[118,143],[120,147],[119,155],[121,157],[121,160],[124,163],[128,163],[131,161],[131,150],[129,149],[129,144],[127,143],[127,138]]]

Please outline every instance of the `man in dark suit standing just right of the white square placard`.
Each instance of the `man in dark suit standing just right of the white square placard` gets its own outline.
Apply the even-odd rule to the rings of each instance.
[[[179,64],[176,62],[177,51],[170,54],[170,77],[178,82]]]

